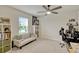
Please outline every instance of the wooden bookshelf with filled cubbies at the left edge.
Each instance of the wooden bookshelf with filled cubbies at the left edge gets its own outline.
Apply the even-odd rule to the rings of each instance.
[[[0,53],[11,49],[11,25],[10,19],[0,17]]]

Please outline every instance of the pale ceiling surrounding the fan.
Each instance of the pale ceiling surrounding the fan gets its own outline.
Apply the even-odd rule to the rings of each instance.
[[[52,5],[50,8],[55,8],[58,5]],[[17,10],[23,11],[25,13],[29,13],[34,16],[41,16],[42,13],[37,13],[38,11],[45,11],[42,5],[11,5],[10,7],[16,8]],[[55,10],[59,13],[69,13],[75,12],[79,10],[79,5],[62,5],[61,9]]]

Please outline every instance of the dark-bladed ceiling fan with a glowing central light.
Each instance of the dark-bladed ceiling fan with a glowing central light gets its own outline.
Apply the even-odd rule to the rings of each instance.
[[[46,10],[46,11],[39,11],[38,13],[45,13],[45,15],[48,15],[48,14],[58,14],[58,12],[55,12],[54,10],[57,10],[57,9],[60,9],[62,8],[62,6],[58,6],[58,7],[55,7],[53,9],[50,9],[50,6],[51,5],[43,5],[42,7]]]

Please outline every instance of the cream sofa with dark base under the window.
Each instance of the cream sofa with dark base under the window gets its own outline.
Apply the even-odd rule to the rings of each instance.
[[[36,34],[22,34],[22,35],[16,35],[15,38],[13,39],[13,45],[22,48],[26,44],[35,41],[37,39]]]

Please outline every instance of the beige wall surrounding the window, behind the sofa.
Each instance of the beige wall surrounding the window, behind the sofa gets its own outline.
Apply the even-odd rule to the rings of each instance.
[[[10,8],[9,6],[0,6],[0,17],[8,17],[11,20],[12,37],[18,34],[19,16],[24,16],[29,19],[29,32],[31,32],[32,31],[32,16],[31,15],[20,12],[14,8]]]

